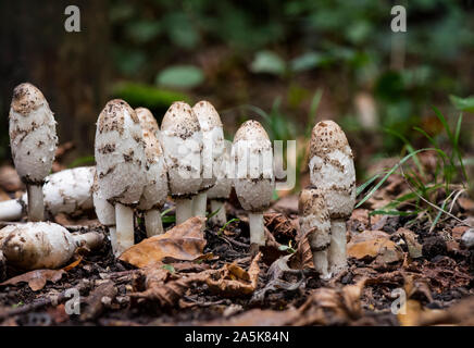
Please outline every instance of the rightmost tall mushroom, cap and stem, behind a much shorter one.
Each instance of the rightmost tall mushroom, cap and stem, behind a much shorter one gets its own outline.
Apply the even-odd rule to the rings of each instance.
[[[319,122],[311,134],[310,179],[325,195],[330,216],[329,271],[347,266],[346,220],[356,203],[356,170],[346,134],[333,121]]]

